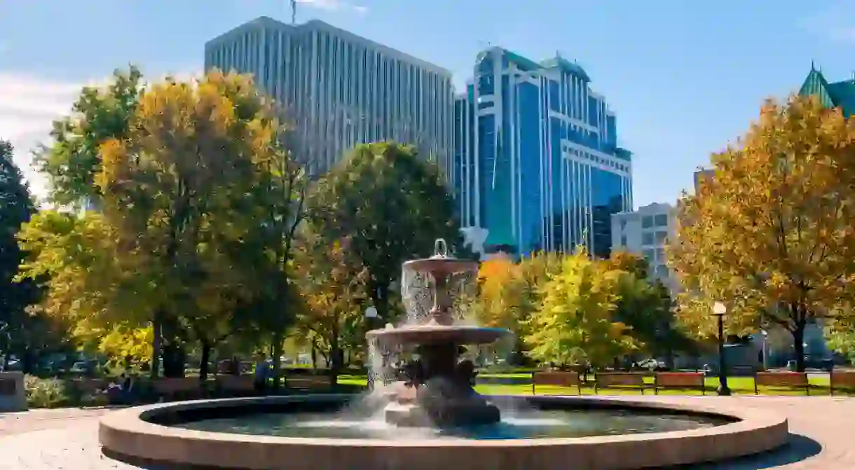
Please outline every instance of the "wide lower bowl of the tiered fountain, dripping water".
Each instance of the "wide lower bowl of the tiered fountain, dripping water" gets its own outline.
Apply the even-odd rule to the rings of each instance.
[[[367,338],[379,338],[386,344],[492,344],[510,332],[483,326],[417,325],[371,330]]]

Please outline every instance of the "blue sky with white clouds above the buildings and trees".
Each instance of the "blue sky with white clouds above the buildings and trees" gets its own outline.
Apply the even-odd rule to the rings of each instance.
[[[149,77],[199,73],[203,45],[287,0],[0,0],[0,138],[29,169],[51,120],[85,84],[133,62]],[[767,97],[797,91],[811,61],[829,81],[855,71],[855,2],[846,0],[300,0],[320,19],[451,70],[499,45],[560,51],[591,77],[634,153],[634,202],[673,203],[692,173],[745,132]]]

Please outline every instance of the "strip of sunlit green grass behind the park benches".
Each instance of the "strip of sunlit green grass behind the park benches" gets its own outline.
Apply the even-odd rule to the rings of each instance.
[[[529,379],[531,378],[531,374],[528,373],[504,373],[504,374],[483,374],[479,377],[486,378],[503,378],[503,379]],[[593,377],[591,378],[593,379]],[[821,376],[809,376],[809,380],[811,382],[811,395],[823,396],[828,395],[828,377]],[[653,378],[646,377],[645,382],[649,385],[649,391],[645,391],[645,393],[652,393],[653,386]],[[365,376],[357,376],[357,375],[344,375],[339,377],[339,384],[345,385],[368,385],[368,378]],[[716,387],[718,386],[718,378],[717,377],[707,377],[706,378],[706,388],[707,395],[715,394]],[[734,395],[753,395],[754,394],[754,378],[752,377],[728,377],[728,387],[734,393]],[[499,385],[499,384],[481,384],[475,385],[475,391],[485,395],[530,395],[532,392],[531,384],[519,384],[519,385]],[[762,395],[805,395],[804,389],[788,389],[783,387],[760,387],[760,394]],[[537,386],[538,395],[575,395],[576,388],[575,387],[559,387],[554,385],[538,385]],[[591,387],[582,387],[581,388],[582,395],[594,395],[593,386]],[[660,395],[698,395],[700,391],[697,390],[660,390]],[[840,393],[843,394],[842,391],[835,391],[834,394]],[[605,390],[599,391],[600,395],[638,395],[640,391],[637,388],[609,388]]]

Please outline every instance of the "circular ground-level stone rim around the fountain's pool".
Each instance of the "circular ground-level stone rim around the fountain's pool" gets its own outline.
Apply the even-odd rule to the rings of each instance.
[[[103,416],[98,437],[103,452],[139,465],[180,468],[313,470],[618,470],[719,461],[775,449],[787,442],[787,420],[755,408],[735,408],[711,398],[704,407],[633,402],[607,397],[502,397],[503,400],[567,408],[617,407],[716,415],[733,420],[722,426],[587,438],[518,440],[378,440],[279,438],[201,432],[154,424],[182,414],[236,414],[241,408],[277,406],[317,408],[352,396],[308,395],[161,403],[127,408]]]

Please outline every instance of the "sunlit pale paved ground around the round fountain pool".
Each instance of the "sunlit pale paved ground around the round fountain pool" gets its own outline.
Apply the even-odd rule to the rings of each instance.
[[[697,470],[852,470],[855,398],[832,397],[620,397],[663,402],[735,401],[786,414],[793,437],[786,448],[740,461],[693,466]],[[101,455],[97,417],[102,409],[34,410],[0,414],[0,470],[139,470]],[[147,467],[148,470],[162,470]]]

